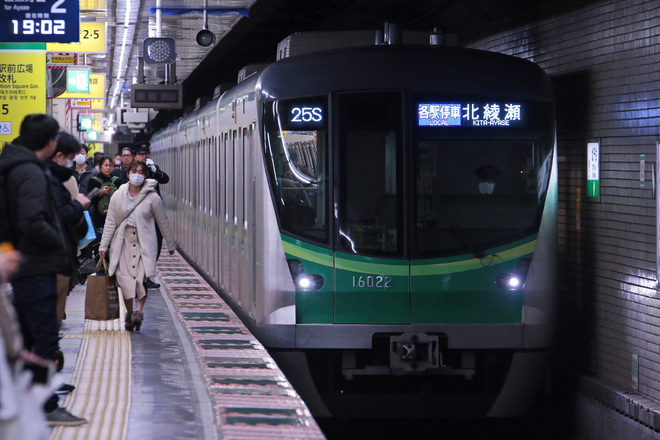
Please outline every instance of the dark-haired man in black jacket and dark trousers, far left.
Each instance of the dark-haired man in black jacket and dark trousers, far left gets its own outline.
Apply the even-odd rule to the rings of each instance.
[[[10,241],[21,253],[11,278],[14,306],[25,348],[37,356],[58,358],[57,279],[68,274],[70,254],[44,161],[55,154],[59,124],[45,114],[27,115],[21,122],[22,145],[7,144],[0,153],[0,173],[6,176],[5,206]],[[49,425],[77,426],[83,418],[60,407],[56,394],[44,404]]]

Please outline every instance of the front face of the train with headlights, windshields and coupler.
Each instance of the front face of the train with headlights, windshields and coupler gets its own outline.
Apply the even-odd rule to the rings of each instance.
[[[374,46],[274,63],[257,96],[295,285],[293,340],[271,348],[312,411],[529,410],[556,282],[545,73],[501,54]]]

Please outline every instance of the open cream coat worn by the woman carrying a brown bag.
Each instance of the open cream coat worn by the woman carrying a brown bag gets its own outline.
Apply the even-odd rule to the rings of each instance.
[[[155,191],[156,183],[153,179],[145,179],[140,193],[136,196],[136,208],[133,211],[135,227],[142,249],[142,262],[145,274],[149,278],[156,275],[156,257],[158,253],[154,221],[158,223],[160,232],[167,244],[167,249],[170,251],[176,250],[174,234],[165,213],[165,205],[163,205],[163,201]],[[129,185],[122,185],[115,191],[110,199],[108,214],[105,217],[105,227],[103,228],[99,251],[106,252],[108,246],[110,247],[110,267],[108,268],[108,275],[110,276],[114,275],[117,270],[122,243],[124,242],[127,222],[123,220],[128,215],[128,189]]]

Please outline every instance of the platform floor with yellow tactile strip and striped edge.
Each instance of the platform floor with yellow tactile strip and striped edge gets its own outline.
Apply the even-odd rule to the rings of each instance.
[[[88,423],[51,440],[324,439],[258,340],[178,253],[158,262],[140,331],[84,319],[85,286],[67,299],[60,405]],[[120,294],[121,295],[121,294]],[[123,308],[123,307],[122,307]]]

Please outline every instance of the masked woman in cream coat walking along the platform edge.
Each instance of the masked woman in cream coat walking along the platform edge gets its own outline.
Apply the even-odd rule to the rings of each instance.
[[[99,255],[105,258],[110,247],[108,275],[115,275],[126,304],[126,330],[140,330],[144,320],[147,292],[145,277],[156,275],[156,227],[158,223],[170,255],[176,244],[158,193],[156,181],[145,179],[147,166],[133,162],[128,170],[128,184],[113,194],[103,228]],[[135,312],[133,311],[133,298]]]

